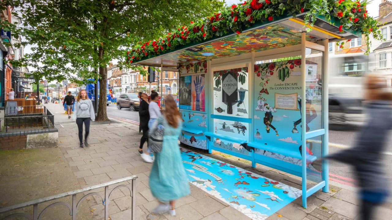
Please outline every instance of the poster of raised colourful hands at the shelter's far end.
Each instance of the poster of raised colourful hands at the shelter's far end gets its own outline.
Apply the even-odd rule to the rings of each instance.
[[[205,111],[205,75],[192,76],[192,110]]]

